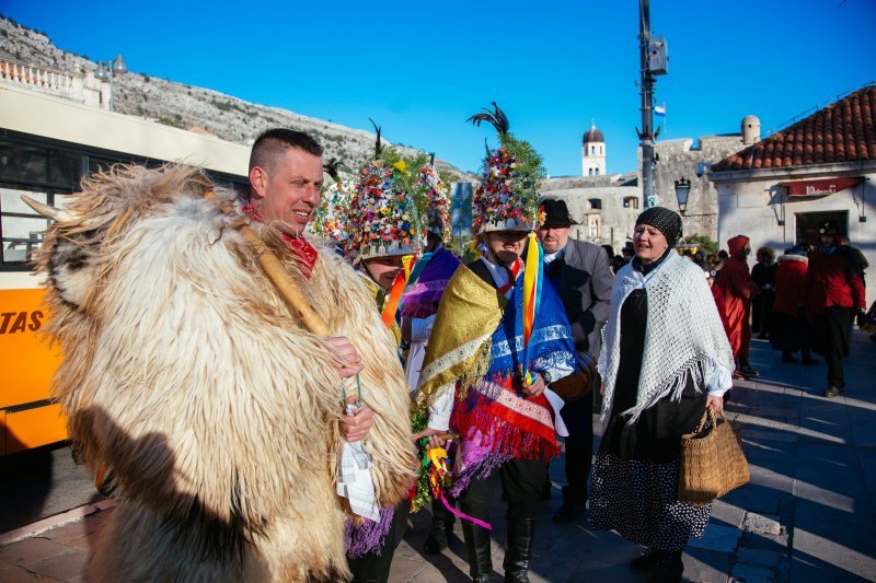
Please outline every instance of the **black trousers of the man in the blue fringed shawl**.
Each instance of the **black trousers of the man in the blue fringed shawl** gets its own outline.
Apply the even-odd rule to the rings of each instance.
[[[459,497],[460,509],[470,516],[488,522],[489,503],[496,483],[500,481],[508,499],[508,515],[534,518],[546,479],[548,462],[511,459],[494,469],[486,478],[473,479]]]

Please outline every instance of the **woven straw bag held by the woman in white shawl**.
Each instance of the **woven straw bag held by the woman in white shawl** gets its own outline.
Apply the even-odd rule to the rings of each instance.
[[[707,430],[704,429],[706,419],[712,421],[712,427]],[[679,501],[704,506],[748,483],[750,477],[739,436],[730,427],[724,411],[721,411],[718,422],[715,410],[707,407],[696,431],[681,438]]]

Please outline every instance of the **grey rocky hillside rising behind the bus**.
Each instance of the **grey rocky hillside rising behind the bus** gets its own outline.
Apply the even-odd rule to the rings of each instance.
[[[85,55],[56,47],[42,32],[27,28],[0,14],[0,58],[44,69],[84,74],[97,63]],[[154,119],[177,128],[209,132],[223,140],[251,143],[263,130],[288,127],[316,137],[325,158],[337,158],[350,168],[365,163],[373,151],[374,135],[296,114],[278,107],[245,102],[209,89],[174,83],[130,71],[114,81],[115,110]],[[406,154],[415,151],[401,148]],[[459,168],[436,160],[456,179],[472,179]]]

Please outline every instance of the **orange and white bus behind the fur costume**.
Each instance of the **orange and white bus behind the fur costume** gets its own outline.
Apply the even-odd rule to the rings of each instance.
[[[62,207],[84,175],[114,163],[203,166],[244,193],[249,148],[0,81],[0,456],[67,438],[51,378],[60,360],[42,334],[31,258],[48,226],[20,196]]]

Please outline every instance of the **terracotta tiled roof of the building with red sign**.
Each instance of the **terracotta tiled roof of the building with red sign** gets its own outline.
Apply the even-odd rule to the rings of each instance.
[[[876,160],[876,85],[820,109],[714,166],[731,170]]]

